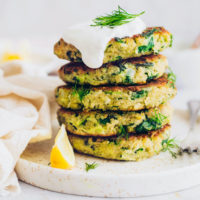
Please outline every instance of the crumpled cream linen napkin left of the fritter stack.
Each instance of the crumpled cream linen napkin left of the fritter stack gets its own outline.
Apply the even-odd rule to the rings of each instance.
[[[0,70],[1,196],[20,192],[14,168],[28,143],[51,137],[48,99],[53,100],[54,89],[61,81],[13,73],[4,77]]]

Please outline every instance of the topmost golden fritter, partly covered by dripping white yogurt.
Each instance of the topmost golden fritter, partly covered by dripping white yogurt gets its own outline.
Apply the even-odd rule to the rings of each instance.
[[[157,54],[172,45],[172,34],[163,27],[150,27],[143,33],[132,37],[111,39],[104,51],[103,63],[116,60]],[[54,46],[54,53],[62,59],[82,62],[81,52],[60,39]]]

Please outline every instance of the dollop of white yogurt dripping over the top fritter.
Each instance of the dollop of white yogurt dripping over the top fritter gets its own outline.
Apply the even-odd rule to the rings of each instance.
[[[82,54],[82,60],[89,68],[99,68],[103,64],[104,51],[108,42],[114,37],[133,36],[142,33],[146,28],[137,17],[133,21],[114,28],[90,26],[93,22],[69,27],[63,39],[73,44]]]

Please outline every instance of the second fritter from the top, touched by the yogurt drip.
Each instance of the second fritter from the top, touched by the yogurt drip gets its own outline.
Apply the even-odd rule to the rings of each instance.
[[[66,83],[79,85],[134,85],[161,77],[167,67],[165,56],[149,55],[104,64],[98,69],[69,63],[60,68],[59,76]]]

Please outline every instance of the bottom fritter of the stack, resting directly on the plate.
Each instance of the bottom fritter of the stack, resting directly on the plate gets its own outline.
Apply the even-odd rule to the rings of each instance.
[[[69,134],[73,148],[80,153],[113,160],[140,161],[162,150],[169,138],[170,125],[148,134],[124,137],[87,137]]]

